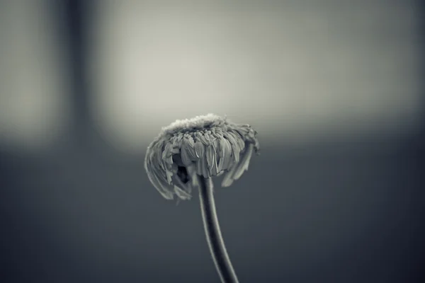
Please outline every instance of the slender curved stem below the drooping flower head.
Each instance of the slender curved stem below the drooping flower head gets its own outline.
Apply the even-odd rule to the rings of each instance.
[[[238,283],[239,281],[233,270],[229,255],[227,255],[225,242],[220,231],[220,224],[218,223],[217,212],[215,211],[212,179],[200,176],[198,183],[205,236],[207,236],[208,246],[210,247],[215,268],[223,283]]]

